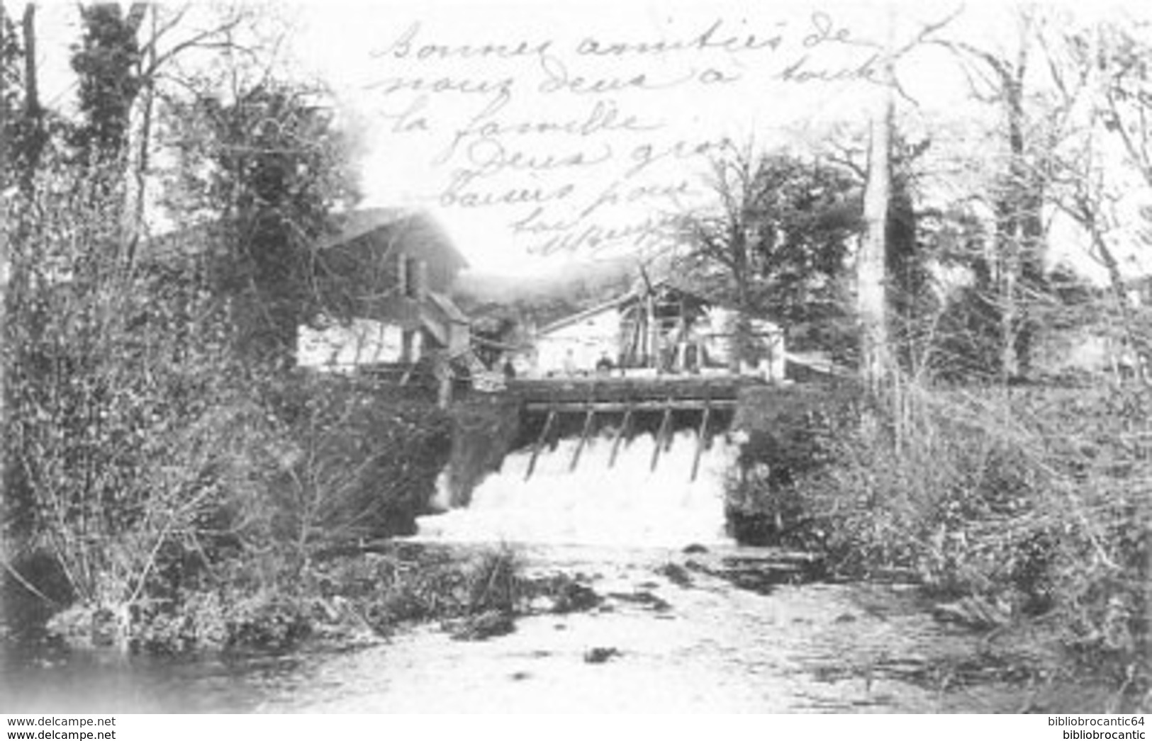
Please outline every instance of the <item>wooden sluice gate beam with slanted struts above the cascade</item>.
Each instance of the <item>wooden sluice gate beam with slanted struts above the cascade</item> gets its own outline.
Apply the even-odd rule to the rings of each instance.
[[[532,443],[531,457],[524,479],[536,471],[540,453],[561,434],[564,418],[579,420],[579,440],[573,451],[568,469],[575,471],[581,456],[596,434],[597,418],[619,420],[612,433],[608,467],[615,465],[622,444],[644,427],[655,423],[655,444],[650,469],[654,471],[662,452],[670,450],[676,419],[681,426],[685,415],[698,414],[691,422],[696,431],[691,481],[699,472],[700,457],[708,448],[710,434],[727,427],[736,408],[740,390],[748,385],[764,385],[759,379],[735,375],[676,375],[655,377],[582,376],[563,379],[509,380],[506,392],[517,398],[529,420],[543,418],[539,433]],[[642,422],[642,418],[646,418]],[[569,427],[571,427],[571,420]],[[575,431],[575,430],[574,430]]]

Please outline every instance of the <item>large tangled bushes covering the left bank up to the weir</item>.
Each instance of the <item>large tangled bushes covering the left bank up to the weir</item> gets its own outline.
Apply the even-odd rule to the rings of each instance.
[[[145,239],[112,160],[46,152],[0,220],[0,566],[16,589],[76,603],[65,632],[123,644],[151,625],[167,643],[214,611],[206,590],[279,590],[334,541],[412,532],[448,426],[408,389],[244,362],[257,307],[218,280],[211,230]],[[255,620],[288,626],[262,641],[289,640],[281,608]]]

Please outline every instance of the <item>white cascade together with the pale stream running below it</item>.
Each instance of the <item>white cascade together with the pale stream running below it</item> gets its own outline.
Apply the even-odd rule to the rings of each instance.
[[[562,440],[525,478],[510,454],[467,509],[424,518],[415,541],[463,551],[514,543],[530,573],[567,574],[593,609],[547,604],[508,635],[457,641],[438,625],[341,654],[232,664],[70,665],[67,686],[7,687],[26,709],[266,712],[1020,710],[1028,689],[980,660],[983,639],[942,625],[900,585],[806,579],[799,555],[723,534],[722,437],[690,481],[677,434],[652,469],[637,437]],[[51,673],[51,666],[44,671]],[[12,681],[12,677],[9,677]],[[30,689],[32,688],[32,689]],[[18,690],[18,692],[17,692]],[[0,687],[0,693],[6,692]],[[67,706],[60,700],[67,697]],[[0,705],[5,703],[0,701]]]

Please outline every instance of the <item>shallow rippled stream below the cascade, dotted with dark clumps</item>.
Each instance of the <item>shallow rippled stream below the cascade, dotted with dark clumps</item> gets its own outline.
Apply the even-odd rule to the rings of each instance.
[[[461,567],[493,552],[396,547],[403,553],[341,560],[367,573],[384,558]],[[449,611],[389,624],[369,640],[329,634],[287,651],[41,655],[18,681],[6,667],[0,704],[56,712],[991,712],[1036,702],[1034,682],[985,658],[979,635],[935,620],[915,588],[810,582],[801,555],[539,545],[515,557],[525,588],[507,629],[475,632],[469,626],[483,620]]]

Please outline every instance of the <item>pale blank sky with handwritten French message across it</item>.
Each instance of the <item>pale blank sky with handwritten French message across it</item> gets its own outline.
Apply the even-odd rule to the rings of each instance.
[[[896,47],[945,18],[932,38],[1010,49],[1015,32],[1002,3],[958,0],[268,7],[294,23],[286,52],[362,133],[364,205],[430,211],[473,269],[505,275],[667,245],[673,216],[715,204],[708,160],[726,140],[811,152],[865,136],[889,24]],[[1093,12],[1116,9],[1076,8]],[[41,10],[60,81],[74,17],[70,3]],[[920,44],[896,71],[911,135],[975,161],[994,148],[995,108],[973,102],[954,55]],[[61,83],[48,98],[68,94]],[[964,177],[939,178],[937,194]],[[1058,258],[1092,269],[1077,239],[1059,242]]]

